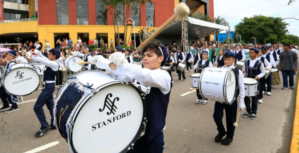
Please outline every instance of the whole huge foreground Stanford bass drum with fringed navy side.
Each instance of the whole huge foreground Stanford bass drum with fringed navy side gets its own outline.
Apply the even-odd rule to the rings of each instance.
[[[94,70],[65,82],[54,105],[56,126],[74,153],[127,152],[144,134],[145,115],[137,87]]]

